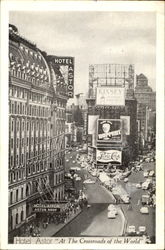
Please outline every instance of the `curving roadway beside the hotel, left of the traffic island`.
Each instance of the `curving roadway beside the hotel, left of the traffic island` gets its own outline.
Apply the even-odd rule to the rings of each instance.
[[[72,161],[76,153],[72,154]],[[73,166],[73,163],[68,162]],[[77,165],[77,164],[75,164]],[[68,166],[67,166],[68,167]],[[87,175],[87,170],[82,169],[80,175]],[[88,174],[89,175],[89,174]],[[96,177],[90,176],[91,179]],[[85,208],[82,213],[66,225],[55,236],[119,236],[123,233],[125,219],[120,207],[117,208],[118,215],[115,219],[107,218],[107,207],[114,203],[112,194],[98,182],[95,184],[85,184],[85,194],[88,198],[90,208]]]

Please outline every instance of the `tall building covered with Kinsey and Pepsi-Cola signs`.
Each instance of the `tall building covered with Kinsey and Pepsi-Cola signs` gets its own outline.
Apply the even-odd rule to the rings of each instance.
[[[90,158],[95,157],[97,166],[111,163],[126,167],[137,155],[133,65],[90,65],[86,101]]]

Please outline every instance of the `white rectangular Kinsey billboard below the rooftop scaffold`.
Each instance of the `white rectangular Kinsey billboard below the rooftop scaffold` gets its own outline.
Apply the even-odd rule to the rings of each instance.
[[[97,87],[96,105],[124,106],[125,88],[123,87]]]

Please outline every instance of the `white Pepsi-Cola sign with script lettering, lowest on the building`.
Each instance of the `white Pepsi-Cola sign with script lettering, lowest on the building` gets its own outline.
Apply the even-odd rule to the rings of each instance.
[[[122,152],[119,150],[97,150],[97,161],[108,163],[108,162],[117,162],[121,163]]]

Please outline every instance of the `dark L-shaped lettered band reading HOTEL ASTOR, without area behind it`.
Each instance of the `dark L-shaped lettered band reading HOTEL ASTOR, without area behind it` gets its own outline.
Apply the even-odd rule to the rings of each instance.
[[[67,88],[68,97],[74,97],[74,57],[54,57],[54,63],[59,66],[66,66],[67,68]]]

